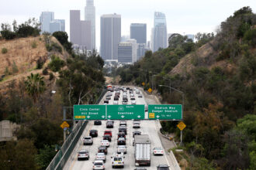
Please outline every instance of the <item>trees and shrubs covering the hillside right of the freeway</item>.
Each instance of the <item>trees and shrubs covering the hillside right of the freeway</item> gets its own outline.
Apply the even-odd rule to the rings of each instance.
[[[183,158],[192,169],[256,168],[255,25],[256,15],[251,8],[240,8],[221,23],[215,36],[199,33],[198,41],[192,42],[174,34],[167,49],[149,51],[133,66],[117,70],[122,78],[120,83],[145,82],[145,90],[157,90],[168,104],[182,104],[182,94],[159,85],[170,86],[171,82],[171,87],[182,90],[187,125],[183,140],[189,153],[188,158]],[[206,43],[213,53],[206,58],[195,57],[203,55],[198,52]],[[186,55],[193,57],[192,63],[182,67],[186,70],[186,66],[192,65],[192,71],[170,74]],[[227,63],[228,67],[218,63]],[[162,121],[163,131],[179,137],[177,123]]]

